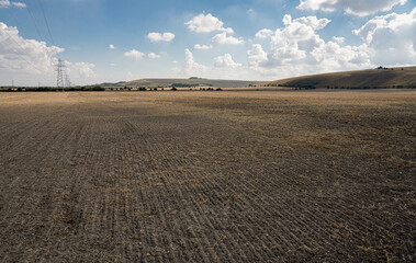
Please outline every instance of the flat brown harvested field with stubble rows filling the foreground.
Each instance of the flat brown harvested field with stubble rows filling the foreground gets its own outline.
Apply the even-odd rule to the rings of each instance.
[[[416,92],[0,94],[1,262],[415,262]]]

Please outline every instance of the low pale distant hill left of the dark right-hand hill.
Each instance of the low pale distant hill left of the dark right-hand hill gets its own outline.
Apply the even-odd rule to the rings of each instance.
[[[213,88],[240,88],[247,85],[256,85],[265,83],[265,81],[245,81],[245,80],[211,80],[211,79],[139,79],[125,83],[120,83],[121,87],[213,87]]]

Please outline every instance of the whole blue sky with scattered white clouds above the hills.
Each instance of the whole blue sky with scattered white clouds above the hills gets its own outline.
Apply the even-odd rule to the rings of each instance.
[[[416,0],[0,0],[0,85],[416,65]]]

